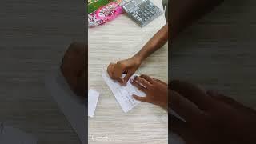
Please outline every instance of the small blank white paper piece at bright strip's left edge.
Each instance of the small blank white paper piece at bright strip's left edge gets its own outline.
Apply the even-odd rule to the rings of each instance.
[[[93,117],[98,103],[99,93],[96,90],[88,91],[88,116]]]

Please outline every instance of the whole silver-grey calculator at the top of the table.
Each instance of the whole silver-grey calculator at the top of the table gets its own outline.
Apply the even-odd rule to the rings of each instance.
[[[139,26],[146,26],[154,18],[158,18],[163,13],[158,6],[150,0],[131,0],[122,5],[128,16],[138,23]]]

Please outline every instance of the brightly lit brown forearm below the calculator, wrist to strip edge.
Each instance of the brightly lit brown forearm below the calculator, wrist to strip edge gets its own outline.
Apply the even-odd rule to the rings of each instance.
[[[158,33],[154,34],[153,38],[150,39],[146,43],[145,46],[142,47],[134,57],[138,58],[139,60],[144,60],[150,54],[154,53],[154,51],[160,49],[165,43],[168,41],[168,23],[158,31]]]

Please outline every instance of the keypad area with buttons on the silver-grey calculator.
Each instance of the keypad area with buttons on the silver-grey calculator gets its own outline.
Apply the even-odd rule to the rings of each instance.
[[[134,19],[140,26],[145,26],[149,22],[157,18],[158,15],[162,14],[157,6],[155,6],[150,0],[142,2],[140,5],[135,6],[128,12],[131,18]]]

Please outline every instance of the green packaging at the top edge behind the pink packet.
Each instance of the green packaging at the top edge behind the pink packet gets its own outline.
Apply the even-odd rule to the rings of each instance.
[[[113,2],[114,0],[88,0],[88,13],[92,13],[98,10],[99,7],[105,6],[106,4]]]

